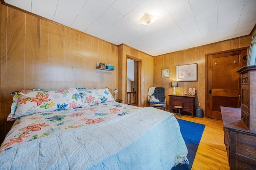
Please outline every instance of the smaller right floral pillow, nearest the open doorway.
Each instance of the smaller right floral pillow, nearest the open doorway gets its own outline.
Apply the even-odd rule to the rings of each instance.
[[[108,88],[84,89],[80,90],[79,94],[84,107],[114,101]]]

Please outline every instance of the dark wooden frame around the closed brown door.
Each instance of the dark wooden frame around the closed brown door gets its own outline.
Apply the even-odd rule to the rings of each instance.
[[[246,50],[246,56],[248,56],[248,50],[250,47],[242,47],[238,49],[232,49],[232,50],[227,50],[227,51],[218,51],[215,53],[208,53],[205,54],[205,106],[204,106],[204,117],[208,117],[208,56],[209,55],[216,55],[216,54],[221,54],[221,53],[228,53],[228,52],[234,52],[234,51],[241,51],[241,50]]]

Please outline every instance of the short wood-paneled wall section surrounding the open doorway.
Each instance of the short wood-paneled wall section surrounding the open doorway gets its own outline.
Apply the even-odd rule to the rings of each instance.
[[[118,98],[125,101],[126,96],[126,55],[142,60],[142,101],[141,107],[149,106],[148,89],[153,86],[154,57],[133,49],[127,45],[118,47]],[[144,82],[143,82],[144,79]]]

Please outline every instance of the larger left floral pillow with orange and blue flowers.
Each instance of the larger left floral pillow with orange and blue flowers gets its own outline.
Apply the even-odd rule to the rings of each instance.
[[[22,90],[18,92],[18,103],[13,118],[46,111],[58,111],[82,107],[78,90]]]

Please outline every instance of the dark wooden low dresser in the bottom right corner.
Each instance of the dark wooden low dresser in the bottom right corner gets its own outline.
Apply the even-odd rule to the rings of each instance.
[[[220,107],[230,170],[256,168],[256,133],[241,120],[241,109]]]

